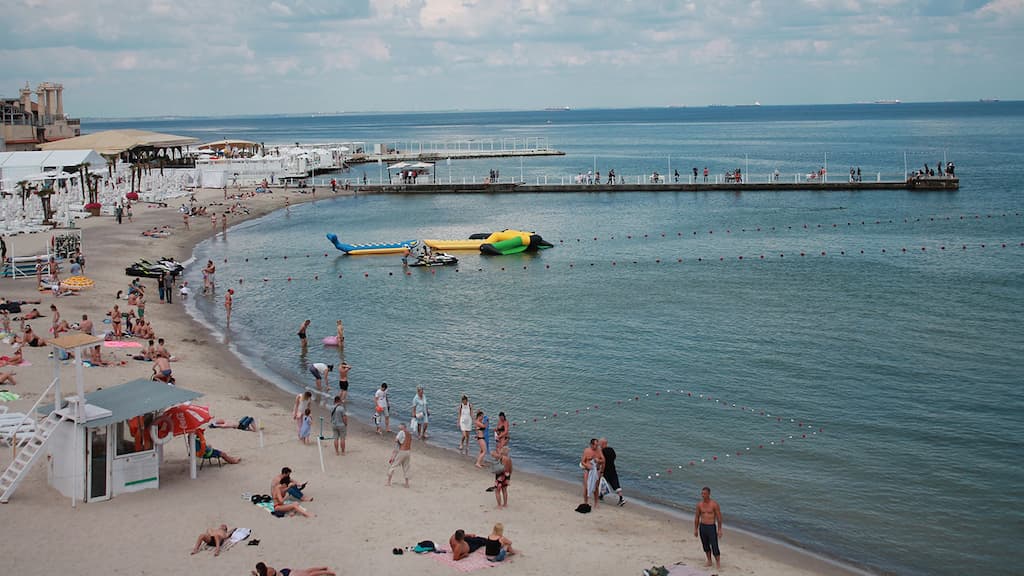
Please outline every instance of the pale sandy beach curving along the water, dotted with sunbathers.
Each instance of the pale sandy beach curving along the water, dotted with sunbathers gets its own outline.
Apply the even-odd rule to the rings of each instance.
[[[314,200],[308,194],[281,190],[244,199],[241,202],[249,215],[234,216],[228,224],[283,208],[286,195],[293,205]],[[201,204],[223,202],[220,190],[200,191],[196,196]],[[329,191],[322,191],[315,201],[332,202],[331,197]],[[43,302],[38,307],[47,318],[32,322],[39,332],[49,326],[48,307],[54,302],[70,322],[88,314],[99,326],[116,302],[115,293],[126,289],[130,281],[124,275],[126,265],[138,258],[153,260],[162,256],[186,260],[198,242],[220,232],[220,223],[212,228],[209,217],[194,218],[191,230],[184,230],[176,210],[182,202],[184,199],[172,201],[168,207],[138,203],[134,221],[120,225],[113,217],[77,221],[83,231],[85,274],[95,280],[94,288],[54,299],[49,293],[36,292],[33,280],[0,279],[0,295],[16,299],[41,297]],[[222,207],[214,209],[220,211]],[[173,231],[167,238],[141,236],[144,230],[165,224]],[[49,235],[42,234],[15,237],[16,255],[42,252],[48,239]],[[226,289],[221,282],[218,305]],[[433,540],[446,548],[447,538],[456,529],[485,536],[496,522],[505,525],[505,535],[520,550],[498,566],[503,573],[636,575],[652,565],[685,563],[702,567],[703,552],[693,537],[691,516],[663,513],[635,501],[624,507],[601,505],[592,513],[577,513],[573,509],[581,502],[577,478],[559,481],[516,471],[510,485],[509,507],[496,509],[494,495],[484,491],[493,484],[493,476],[486,469],[475,468],[473,458],[444,449],[454,447],[414,441],[411,487],[401,486],[400,472],[398,482],[386,487],[387,459],[393,442],[375,435],[358,415],[350,416],[347,454],[336,456],[325,443],[327,471],[322,474],[315,444],[302,445],[296,439],[291,418],[294,397],[246,369],[226,345],[184,313],[177,297],[172,304],[160,302],[155,280],[144,283],[148,296],[146,318],[178,359],[173,364],[178,385],[202,393],[199,403],[210,406],[216,417],[257,418],[264,427],[264,446],[260,448],[256,433],[209,430],[207,439],[212,446],[242,461],[208,466],[193,481],[188,478],[185,443],[178,438],[165,446],[159,490],[117,496],[105,502],[79,503],[76,508],[69,498],[47,485],[46,464],[38,462],[10,502],[0,505],[0,539],[7,550],[2,564],[9,573],[110,575],[182,570],[199,575],[243,575],[262,561],[276,568],[329,566],[338,574],[447,575],[458,571],[427,558],[429,554],[407,551],[394,556],[392,548],[413,546],[421,540]],[[193,288],[199,292],[202,287]],[[122,300],[121,305],[126,307],[127,303]],[[237,301],[236,305],[245,302]],[[287,319],[282,329],[294,331],[300,320]],[[9,344],[0,343],[0,354],[11,351]],[[11,411],[28,410],[49,384],[53,365],[47,359],[48,352],[26,349],[26,359],[32,365],[15,369],[17,385],[4,386],[20,395],[18,400],[7,403]],[[126,360],[125,354],[118,352],[116,359]],[[115,358],[111,348],[104,348],[104,354],[108,359]],[[68,389],[74,382],[74,368],[67,364],[60,370]],[[123,366],[87,368],[86,389],[109,387],[150,374],[150,363],[130,359]],[[334,373],[331,378],[336,378]],[[377,384],[354,377],[352,394],[369,396]],[[317,410],[314,420],[327,416],[326,410]],[[456,426],[454,409],[435,405],[432,412],[432,427]],[[393,418],[392,427],[397,428],[402,416]],[[10,449],[0,450],[0,465],[6,467],[11,457]],[[307,494],[314,500],[307,508],[316,518],[278,519],[243,496],[267,493],[272,477],[286,465],[293,468],[297,481],[308,482]],[[629,496],[629,486],[624,488]],[[694,503],[698,498],[699,494],[692,494]],[[725,517],[723,566],[708,574],[856,573],[733,530],[729,502],[720,503]],[[252,538],[258,539],[259,545],[243,543],[218,558],[209,550],[189,556],[199,533],[221,523],[252,529]]]

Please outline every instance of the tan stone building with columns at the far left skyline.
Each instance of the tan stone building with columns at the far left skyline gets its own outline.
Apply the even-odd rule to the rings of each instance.
[[[81,120],[65,115],[62,84],[42,82],[35,92],[32,101],[33,90],[26,82],[18,97],[0,97],[0,152],[36,150],[82,133]]]

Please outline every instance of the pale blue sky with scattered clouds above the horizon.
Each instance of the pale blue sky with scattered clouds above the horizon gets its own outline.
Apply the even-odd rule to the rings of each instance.
[[[1024,0],[4,0],[75,117],[1024,99]]]

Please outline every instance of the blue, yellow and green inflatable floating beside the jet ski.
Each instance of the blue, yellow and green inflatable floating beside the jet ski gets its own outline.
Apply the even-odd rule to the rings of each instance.
[[[419,244],[416,240],[406,240],[389,244],[345,244],[338,240],[335,234],[328,234],[327,239],[334,244],[334,247],[346,254],[403,254],[412,251]],[[553,244],[544,240],[541,235],[534,232],[521,230],[503,230],[501,232],[474,234],[467,240],[424,240],[423,244],[431,250],[470,250],[489,254],[494,256],[507,256],[520,252],[536,252],[546,248],[551,248]],[[454,257],[451,257],[454,258]],[[454,263],[458,259],[446,260],[444,263]],[[412,265],[412,264],[411,264]],[[420,264],[424,265],[424,264]],[[440,265],[434,263],[433,265]]]

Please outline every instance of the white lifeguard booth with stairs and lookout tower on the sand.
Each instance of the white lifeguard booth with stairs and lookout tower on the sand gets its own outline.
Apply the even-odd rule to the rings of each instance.
[[[13,490],[32,464],[46,455],[47,482],[65,496],[77,501],[108,500],[120,494],[160,487],[163,445],[176,436],[185,436],[196,478],[195,430],[179,426],[169,417],[175,409],[187,407],[201,397],[197,392],[150,379],[137,379],[94,392],[82,390],[81,358],[84,351],[102,338],[71,334],[53,338],[56,377],[40,395],[46,398],[53,389],[54,404],[40,405],[26,415],[25,424],[35,422],[33,413],[45,418],[25,430],[23,442],[10,467],[0,477],[2,501]],[[74,358],[78,394],[61,398],[59,359]]]

